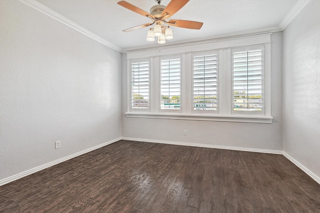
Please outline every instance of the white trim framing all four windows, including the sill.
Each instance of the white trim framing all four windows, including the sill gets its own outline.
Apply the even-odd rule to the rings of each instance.
[[[149,58],[150,59],[150,111],[135,112],[128,107],[125,116],[128,118],[158,118],[158,119],[178,119],[178,120],[203,120],[203,121],[225,121],[225,122],[249,122],[249,123],[272,123],[271,116],[271,34],[264,33],[248,35],[242,37],[228,37],[222,39],[211,39],[204,42],[191,42],[186,45],[170,45],[161,51],[157,47],[148,49],[129,50],[126,53],[126,60]],[[264,45],[264,115],[234,115],[231,114],[231,49],[245,46]],[[192,49],[192,52],[189,50]],[[193,114],[191,112],[191,78],[192,78],[192,53],[205,51],[219,52],[219,113],[220,114]],[[178,55],[182,56],[181,63],[181,103],[183,105],[181,113],[159,112],[158,86],[159,83],[159,57]],[[222,56],[222,57],[221,57]],[[128,78],[130,70],[127,69]],[[129,80],[128,80],[129,83]],[[129,84],[127,84],[129,85]],[[129,87],[129,86],[128,86]],[[128,97],[129,89],[128,89]],[[182,97],[183,95],[183,97]],[[128,98],[129,101],[129,98]],[[127,104],[129,106],[129,102]],[[193,105],[192,105],[193,106]],[[223,108],[221,108],[223,106]],[[230,107],[225,107],[230,106]]]

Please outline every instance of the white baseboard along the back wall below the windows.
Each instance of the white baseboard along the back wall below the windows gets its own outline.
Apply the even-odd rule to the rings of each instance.
[[[151,143],[159,143],[159,144],[172,144],[172,145],[182,145],[182,146],[191,146],[191,147],[205,147],[205,148],[227,149],[227,150],[236,150],[236,151],[259,152],[259,153],[282,155],[282,151],[279,151],[279,150],[266,150],[266,149],[255,149],[255,148],[244,148],[244,147],[231,147],[231,146],[197,144],[197,143],[186,143],[186,142],[176,142],[176,141],[160,141],[160,140],[150,140],[150,139],[142,139],[142,138],[121,137],[121,139],[122,140],[128,140],[128,141],[141,141],[141,142],[151,142]]]

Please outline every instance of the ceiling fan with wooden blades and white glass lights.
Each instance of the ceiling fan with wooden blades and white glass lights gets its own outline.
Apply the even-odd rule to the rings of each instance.
[[[150,13],[140,9],[139,7],[134,6],[124,0],[118,2],[119,5],[136,12],[140,15],[148,17],[151,19],[151,23],[145,23],[138,26],[130,27],[128,29],[122,30],[123,32],[130,32],[136,29],[141,29],[154,24],[154,28],[150,28],[147,34],[148,41],[154,41],[154,36],[158,37],[158,43],[165,43],[165,39],[172,39],[172,29],[169,26],[176,26],[188,29],[200,29],[202,22],[189,21],[189,20],[176,20],[171,19],[167,20],[175,12],[181,9],[189,0],[171,0],[167,6],[161,5],[160,3],[163,0],[154,0],[157,5],[154,5],[150,8]],[[166,26],[166,25],[167,26]]]

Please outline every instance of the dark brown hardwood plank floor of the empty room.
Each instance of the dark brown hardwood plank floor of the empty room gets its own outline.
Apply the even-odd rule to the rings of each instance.
[[[1,213],[320,213],[281,155],[118,141],[0,187]]]

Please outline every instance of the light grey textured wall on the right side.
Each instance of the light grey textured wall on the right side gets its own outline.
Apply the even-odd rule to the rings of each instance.
[[[320,1],[283,31],[283,151],[320,177]]]

